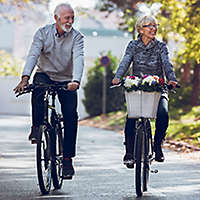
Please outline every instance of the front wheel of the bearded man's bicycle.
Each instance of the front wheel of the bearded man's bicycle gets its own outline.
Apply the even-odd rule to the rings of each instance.
[[[48,194],[51,189],[51,150],[50,133],[46,125],[39,127],[37,140],[37,175],[40,191],[42,194]]]

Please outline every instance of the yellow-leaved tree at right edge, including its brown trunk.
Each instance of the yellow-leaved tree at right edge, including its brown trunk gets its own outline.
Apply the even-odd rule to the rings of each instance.
[[[192,106],[199,105],[200,89],[200,0],[154,0],[162,3],[159,19],[162,32],[171,32],[177,38],[180,50],[177,52],[176,63],[184,67],[184,76],[192,72]],[[165,15],[163,15],[165,13]],[[182,79],[183,80],[183,79]],[[188,80],[186,80],[188,81]]]

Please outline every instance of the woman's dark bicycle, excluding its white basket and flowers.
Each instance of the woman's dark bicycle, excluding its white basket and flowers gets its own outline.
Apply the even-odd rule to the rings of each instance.
[[[173,89],[171,85],[165,85],[168,90]],[[110,88],[120,86],[122,86],[122,82],[118,85],[113,85]],[[179,88],[180,85],[177,85],[176,87]],[[158,173],[158,170],[150,170],[150,165],[155,159],[150,117],[138,117],[135,119],[135,142],[133,153],[133,160],[135,164],[135,188],[136,195],[141,197],[143,192],[148,189],[149,172]]]

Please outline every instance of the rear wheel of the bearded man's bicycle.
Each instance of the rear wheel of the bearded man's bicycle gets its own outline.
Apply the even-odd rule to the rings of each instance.
[[[61,124],[56,124],[54,135],[54,162],[52,163],[52,180],[55,189],[60,189],[63,184],[63,137]]]

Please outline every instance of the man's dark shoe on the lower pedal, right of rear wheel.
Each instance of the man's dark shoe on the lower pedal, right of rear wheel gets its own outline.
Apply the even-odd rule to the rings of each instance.
[[[74,167],[72,165],[71,158],[65,158],[63,160],[63,179],[72,179],[72,176],[75,174]]]

